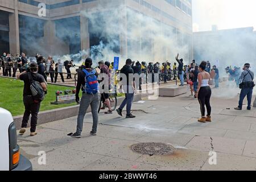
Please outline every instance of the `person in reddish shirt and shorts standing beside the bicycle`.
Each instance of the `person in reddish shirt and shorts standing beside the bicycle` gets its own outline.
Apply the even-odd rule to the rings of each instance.
[[[111,109],[111,105],[110,105],[110,100],[109,100],[109,90],[110,90],[110,72],[109,72],[109,67],[107,65],[104,64],[104,61],[100,61],[98,62],[98,66],[100,67],[101,70],[101,74],[106,74],[108,75],[108,82],[106,83],[104,81],[104,78],[102,78],[102,80],[100,82],[104,82],[104,85],[102,86],[102,89],[105,90],[105,86],[108,88],[108,92],[103,92],[101,94],[101,98],[102,98],[102,102],[103,105],[108,105],[109,110],[105,112],[105,114],[113,114],[113,111]],[[104,109],[104,108],[102,108]]]

